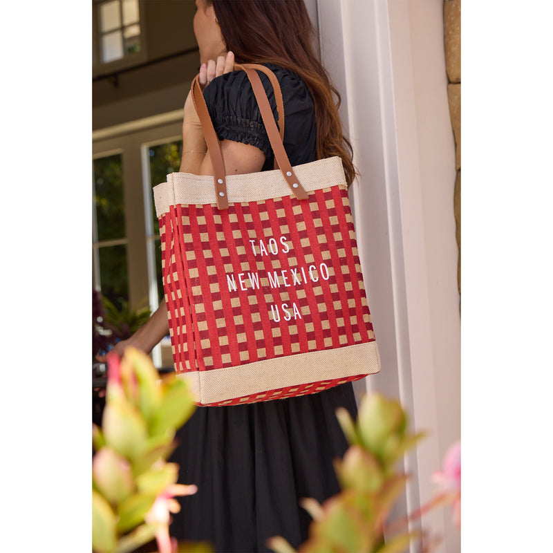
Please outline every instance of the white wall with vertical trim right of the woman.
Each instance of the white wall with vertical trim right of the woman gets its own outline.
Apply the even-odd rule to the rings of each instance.
[[[318,0],[321,55],[341,92],[362,176],[350,196],[382,371],[368,389],[398,397],[429,431],[406,469],[397,514],[433,494],[431,473],[460,438],[460,311],[453,218],[455,147],[442,0]],[[460,551],[449,512],[423,526]]]

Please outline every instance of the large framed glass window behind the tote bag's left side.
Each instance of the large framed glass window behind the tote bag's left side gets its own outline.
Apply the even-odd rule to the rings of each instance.
[[[153,312],[163,297],[152,187],[178,171],[181,138],[181,109],[93,132],[93,285],[118,310]],[[173,366],[168,337],[152,360]]]

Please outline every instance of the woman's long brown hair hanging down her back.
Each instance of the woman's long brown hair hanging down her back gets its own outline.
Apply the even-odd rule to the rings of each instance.
[[[299,75],[315,104],[317,159],[339,156],[348,186],[353,150],[338,115],[340,95],[313,50],[315,28],[303,0],[207,0],[238,64],[275,64]],[[336,99],[336,100],[335,100]]]

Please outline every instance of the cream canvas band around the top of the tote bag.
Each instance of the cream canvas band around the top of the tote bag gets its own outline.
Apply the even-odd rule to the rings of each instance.
[[[308,192],[336,185],[347,186],[344,167],[341,158],[337,156],[296,165],[294,172]],[[290,187],[279,169],[244,175],[227,175],[229,203],[257,202],[290,195],[292,195]],[[213,177],[189,173],[167,175],[167,182],[153,187],[153,198],[158,218],[169,212],[171,205],[217,203]]]

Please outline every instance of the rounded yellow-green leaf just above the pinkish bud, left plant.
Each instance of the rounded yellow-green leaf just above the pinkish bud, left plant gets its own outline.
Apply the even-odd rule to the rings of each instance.
[[[103,431],[106,444],[131,460],[148,437],[146,422],[137,409],[126,403],[106,403]]]

